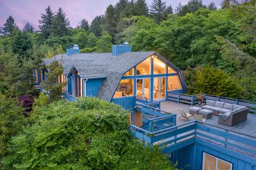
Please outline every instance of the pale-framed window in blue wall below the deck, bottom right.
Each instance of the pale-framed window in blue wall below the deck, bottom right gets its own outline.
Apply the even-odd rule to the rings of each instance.
[[[202,167],[203,170],[231,170],[232,164],[221,160],[220,158],[216,158],[215,156],[209,155],[208,153],[204,153]]]

